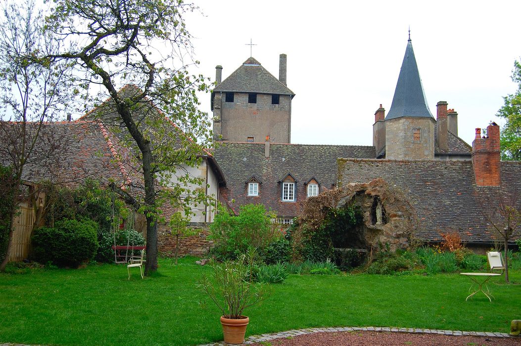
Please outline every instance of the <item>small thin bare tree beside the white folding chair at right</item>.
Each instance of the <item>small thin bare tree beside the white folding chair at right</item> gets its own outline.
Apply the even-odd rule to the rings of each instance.
[[[508,242],[521,233],[520,191],[483,188],[480,204],[490,229],[503,241],[505,281],[508,283]]]

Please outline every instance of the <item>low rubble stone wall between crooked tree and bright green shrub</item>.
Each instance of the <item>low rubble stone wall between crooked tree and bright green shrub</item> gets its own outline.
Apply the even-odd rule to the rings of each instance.
[[[191,222],[189,228],[193,229],[196,234],[190,237],[179,238],[179,256],[192,255],[196,257],[205,257],[208,250],[213,246],[212,240],[207,240],[209,223]],[[167,224],[158,225],[158,246],[160,255],[171,257],[175,253],[176,238],[170,235],[170,229]]]

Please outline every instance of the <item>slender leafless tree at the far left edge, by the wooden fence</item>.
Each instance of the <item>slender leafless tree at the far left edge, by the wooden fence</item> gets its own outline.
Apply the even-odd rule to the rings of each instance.
[[[66,63],[36,58],[56,52],[58,46],[44,33],[43,15],[35,7],[32,0],[9,3],[0,23],[0,160],[11,167],[15,180],[7,254],[0,270],[9,259],[24,169],[34,161],[42,166],[52,163],[56,140],[45,126],[68,107],[70,100]]]

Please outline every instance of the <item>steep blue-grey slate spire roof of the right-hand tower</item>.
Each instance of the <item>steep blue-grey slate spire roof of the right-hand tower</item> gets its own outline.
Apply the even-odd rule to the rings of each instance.
[[[407,48],[405,48],[405,56],[398,76],[398,83],[396,83],[391,109],[387,113],[386,120],[400,117],[430,117],[434,119],[427,106],[410,36],[407,41]]]

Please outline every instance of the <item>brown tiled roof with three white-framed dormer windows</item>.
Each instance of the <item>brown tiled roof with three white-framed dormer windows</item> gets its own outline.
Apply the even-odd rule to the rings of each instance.
[[[330,189],[336,184],[337,158],[374,158],[372,146],[336,146],[270,144],[270,157],[265,158],[263,143],[223,143],[214,151],[214,157],[224,172],[227,186],[221,188],[221,201],[233,210],[247,203],[262,203],[280,216],[296,216],[299,202],[306,198],[306,185],[310,178]],[[290,173],[296,184],[296,202],[281,201],[279,181]],[[249,197],[246,182],[255,176],[262,183],[259,196]],[[234,200],[234,202],[232,202]]]

